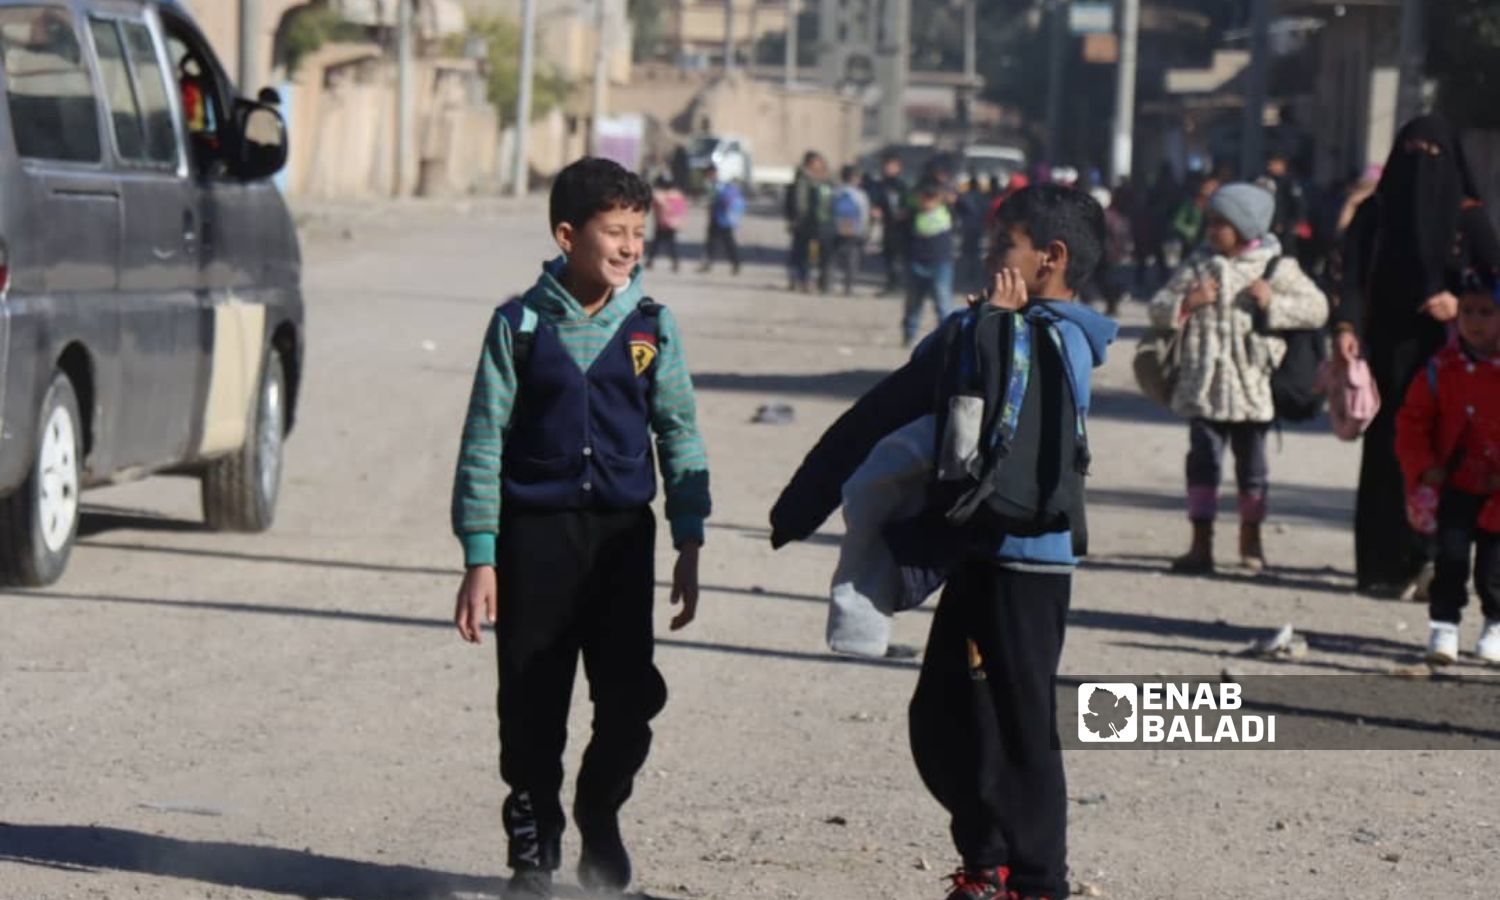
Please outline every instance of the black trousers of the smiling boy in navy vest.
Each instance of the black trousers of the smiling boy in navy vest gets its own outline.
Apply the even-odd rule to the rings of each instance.
[[[573,816],[612,820],[651,748],[666,704],[652,663],[656,516],[506,510],[500,531],[500,776],[508,864],[558,868],[562,747],[579,656],[594,734],[578,774]]]

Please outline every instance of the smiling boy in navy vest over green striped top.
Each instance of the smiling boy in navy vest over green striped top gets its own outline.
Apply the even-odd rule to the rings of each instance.
[[[640,291],[650,207],[646,183],[614,162],[585,158],[558,174],[550,224],[562,255],[490,320],[464,422],[454,621],[472,644],[482,621],[495,626],[512,898],[550,897],[561,864],[580,656],[594,729],[573,801],[578,876],[606,894],[630,884],[618,814],[666,702],[651,658],[652,438],[678,550],[672,630],[698,609],[708,459],[676,324]]]

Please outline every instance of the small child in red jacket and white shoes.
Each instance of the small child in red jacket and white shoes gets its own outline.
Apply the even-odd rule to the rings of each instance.
[[[1396,416],[1407,490],[1437,492],[1426,657],[1458,662],[1468,562],[1485,627],[1474,656],[1500,663],[1500,290],[1472,273],[1458,302],[1458,340],[1412,381]]]

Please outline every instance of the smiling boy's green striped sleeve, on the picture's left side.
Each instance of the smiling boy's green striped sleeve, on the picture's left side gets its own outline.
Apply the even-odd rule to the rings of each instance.
[[[494,566],[500,534],[500,460],[516,399],[510,327],[496,312],[484,332],[453,474],[453,532],[464,566]]]

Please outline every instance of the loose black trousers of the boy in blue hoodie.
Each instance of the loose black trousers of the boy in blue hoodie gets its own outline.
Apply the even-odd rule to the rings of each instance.
[[[1068,896],[1068,790],[1054,680],[1071,592],[1071,574],[962,566],[910,706],[916,770],[952,816],[964,867],[1008,866],[1014,890],[1056,898]]]

